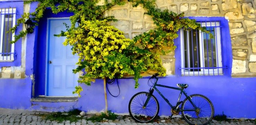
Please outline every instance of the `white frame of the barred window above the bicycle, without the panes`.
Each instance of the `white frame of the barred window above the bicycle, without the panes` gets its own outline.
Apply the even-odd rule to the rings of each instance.
[[[220,22],[215,22],[215,21],[212,21],[212,22],[201,22],[201,26],[202,27],[213,27],[215,28],[215,49],[218,50],[216,52],[216,58],[218,58],[218,62],[217,63],[217,67],[222,67],[222,56],[221,56],[221,36],[220,36]],[[188,33],[188,31],[187,31]],[[187,35],[187,40],[189,39],[189,36]],[[200,30],[199,31],[199,49],[200,51],[200,67],[199,68],[204,68],[204,46],[203,46],[203,33],[202,31]],[[187,44],[189,44],[187,42]],[[184,57],[184,34],[183,34],[183,30],[180,30],[180,45],[181,45],[181,68],[185,68],[185,58],[187,57]],[[189,48],[190,49],[190,48]],[[188,60],[190,59],[190,54],[189,54],[189,49],[187,50],[188,51]],[[190,67],[190,63],[188,63],[188,66]],[[192,67],[190,67],[192,68]],[[197,68],[197,67],[195,67]],[[205,67],[206,68],[206,67]],[[190,71],[189,69],[181,69],[181,73],[183,76],[195,76],[195,75],[223,75],[222,73],[222,68],[215,68],[215,69],[201,69],[201,71]]]

